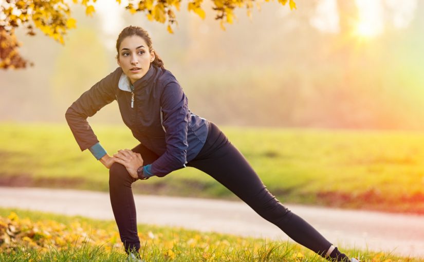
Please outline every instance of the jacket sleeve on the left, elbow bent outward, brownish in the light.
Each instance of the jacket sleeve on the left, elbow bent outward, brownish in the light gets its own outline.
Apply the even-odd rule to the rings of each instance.
[[[103,106],[112,103],[116,99],[115,87],[118,85],[117,68],[114,72],[93,85],[90,89],[69,106],[65,118],[81,151],[99,142],[93,129],[87,122]]]

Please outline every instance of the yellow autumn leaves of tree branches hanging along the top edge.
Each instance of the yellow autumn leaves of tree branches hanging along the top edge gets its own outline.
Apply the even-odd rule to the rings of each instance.
[[[86,14],[92,16],[95,12],[93,3],[96,0],[72,0],[86,8]],[[224,23],[232,24],[236,7],[246,6],[247,14],[251,16],[254,0],[212,0],[216,11],[215,20],[225,30]],[[265,0],[269,2],[269,0]],[[121,4],[121,0],[117,0]],[[188,10],[205,18],[201,8],[203,0],[190,0]],[[282,5],[289,3],[290,9],[296,8],[293,0],[278,0]],[[131,13],[144,12],[150,21],[168,22],[168,31],[173,33],[172,26],[178,24],[174,9],[180,9],[181,0],[140,0],[129,1],[125,7]],[[22,43],[16,39],[14,30],[25,27],[27,34],[35,35],[34,28],[40,29],[45,35],[64,45],[63,37],[67,31],[76,28],[76,20],[70,16],[70,8],[64,0],[5,0],[0,4],[0,68],[25,68],[28,61],[21,57],[18,48]],[[33,63],[30,63],[33,66]]]

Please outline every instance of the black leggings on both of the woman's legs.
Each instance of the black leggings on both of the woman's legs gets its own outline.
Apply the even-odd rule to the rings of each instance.
[[[132,151],[140,153],[144,164],[159,156],[139,144]],[[212,176],[246,202],[257,214],[278,226],[289,237],[310,250],[325,256],[331,243],[309,223],[297,216],[275,198],[257,176],[245,157],[212,122],[204,147],[187,166]],[[114,163],[109,170],[110,202],[125,251],[139,250],[136,209],[131,184],[137,179],[128,174],[122,164]],[[337,260],[347,258],[337,248]],[[335,253],[335,252],[333,252]],[[333,257],[331,253],[331,257]]]

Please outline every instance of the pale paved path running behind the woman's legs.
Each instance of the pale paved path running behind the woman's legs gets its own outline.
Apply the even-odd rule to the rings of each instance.
[[[241,236],[288,239],[246,203],[135,195],[137,221]],[[109,194],[0,186],[0,206],[114,219]],[[350,211],[286,204],[339,249],[358,247],[424,258],[424,216]],[[154,222],[152,222],[154,221]]]

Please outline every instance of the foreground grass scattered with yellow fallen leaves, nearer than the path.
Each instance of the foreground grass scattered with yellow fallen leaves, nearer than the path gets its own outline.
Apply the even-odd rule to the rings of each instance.
[[[115,221],[0,208],[0,261],[125,261]],[[288,241],[138,224],[146,261],[326,261]],[[5,239],[9,239],[9,241]],[[344,250],[361,261],[420,261]]]

